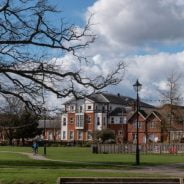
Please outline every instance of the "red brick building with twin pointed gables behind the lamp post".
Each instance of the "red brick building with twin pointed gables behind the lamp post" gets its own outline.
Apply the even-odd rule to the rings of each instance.
[[[172,121],[168,118],[167,105],[155,110],[140,110],[138,113],[138,133],[139,144],[150,142],[181,142],[184,139],[184,119],[178,115],[179,107],[176,114],[173,113]],[[164,115],[164,111],[167,115]],[[184,112],[184,111],[183,111]],[[179,118],[179,120],[178,120]],[[129,143],[136,143],[137,139],[137,113],[134,112],[127,123],[127,137]]]

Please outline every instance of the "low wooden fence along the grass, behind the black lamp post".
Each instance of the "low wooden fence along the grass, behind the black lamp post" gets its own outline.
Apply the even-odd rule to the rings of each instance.
[[[139,150],[144,154],[184,154],[184,144],[142,144]],[[93,153],[135,153],[135,144],[94,144]]]

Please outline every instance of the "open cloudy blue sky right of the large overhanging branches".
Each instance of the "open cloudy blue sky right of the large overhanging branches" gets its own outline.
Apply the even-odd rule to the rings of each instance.
[[[143,87],[141,98],[160,103],[158,90],[167,88],[171,73],[181,75],[184,91],[184,1],[183,0],[54,0],[69,23],[80,28],[92,16],[95,43],[85,50],[93,61],[92,70],[110,71],[124,61],[126,71],[118,86],[105,89],[114,94],[136,97],[133,84]]]

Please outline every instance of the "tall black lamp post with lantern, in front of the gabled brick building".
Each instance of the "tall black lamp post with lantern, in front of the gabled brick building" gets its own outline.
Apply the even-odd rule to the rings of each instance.
[[[136,83],[133,85],[134,90],[137,93],[137,107],[136,107],[136,115],[137,115],[137,144],[136,144],[136,165],[140,164],[140,153],[139,153],[139,91],[142,88],[142,84],[139,83],[138,79]]]

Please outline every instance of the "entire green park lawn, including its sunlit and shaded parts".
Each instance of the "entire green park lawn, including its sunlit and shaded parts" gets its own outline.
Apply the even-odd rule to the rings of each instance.
[[[13,153],[9,153],[9,151]],[[156,176],[155,174],[141,173],[141,170],[140,173],[129,173],[128,171],[135,168],[135,155],[92,154],[90,148],[49,147],[47,148],[47,158],[58,161],[40,161],[16,153],[31,153],[31,151],[30,147],[0,147],[0,184],[55,184],[56,179],[60,176]],[[43,154],[43,148],[39,148],[39,154]],[[183,155],[141,155],[140,167],[181,162],[184,163]]]

